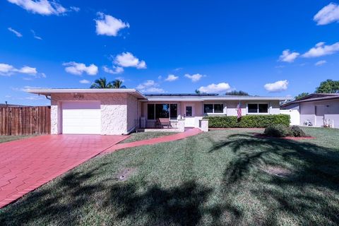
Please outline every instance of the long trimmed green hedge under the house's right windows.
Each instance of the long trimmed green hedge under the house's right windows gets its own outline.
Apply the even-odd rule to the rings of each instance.
[[[266,128],[274,124],[290,126],[290,115],[245,115],[239,121],[236,116],[204,117],[210,128]]]

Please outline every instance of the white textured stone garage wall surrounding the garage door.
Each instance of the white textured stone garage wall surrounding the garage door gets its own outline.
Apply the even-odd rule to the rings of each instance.
[[[73,93],[55,93],[51,98],[51,133],[62,133],[62,102],[100,101],[101,134],[119,135],[128,132],[127,102],[130,96],[126,93],[81,93],[83,98],[73,97]],[[130,100],[133,103],[132,100]],[[132,105],[133,108],[134,105]]]

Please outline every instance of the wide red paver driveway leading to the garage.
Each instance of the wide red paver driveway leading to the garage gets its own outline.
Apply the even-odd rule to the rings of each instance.
[[[37,136],[0,143],[0,208],[128,136]]]

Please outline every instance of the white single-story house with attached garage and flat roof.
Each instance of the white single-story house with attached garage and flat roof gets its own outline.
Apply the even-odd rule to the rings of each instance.
[[[52,134],[127,134],[136,128],[201,127],[205,115],[280,114],[289,97],[218,94],[144,95],[135,89],[40,89],[51,100]]]

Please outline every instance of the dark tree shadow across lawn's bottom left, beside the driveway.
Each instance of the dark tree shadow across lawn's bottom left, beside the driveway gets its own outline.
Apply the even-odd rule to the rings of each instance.
[[[212,225],[221,225],[225,211],[241,217],[227,204],[207,206],[213,189],[195,181],[168,189],[144,181],[93,181],[103,166],[71,171],[53,186],[33,191],[0,210],[0,225],[198,225],[206,215]]]

